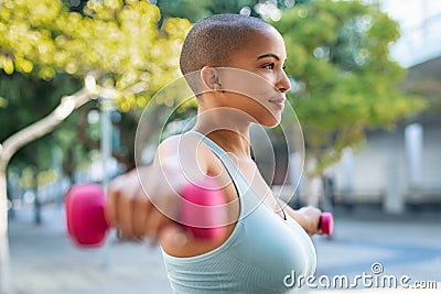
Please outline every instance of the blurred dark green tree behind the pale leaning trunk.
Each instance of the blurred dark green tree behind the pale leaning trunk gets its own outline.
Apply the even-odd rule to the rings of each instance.
[[[2,126],[0,142],[14,132],[39,120],[44,115],[47,115],[50,109],[53,109],[57,104],[60,104],[61,96],[75,91],[79,86],[80,85],[76,78],[69,77],[65,74],[60,74],[52,80],[46,81],[39,79],[35,76],[23,75],[21,73],[14,73],[12,75],[0,73],[0,96],[8,97],[8,99],[3,98],[8,101],[8,106],[4,109],[0,109],[0,126]],[[36,99],[36,97],[44,97],[44,99]],[[75,129],[75,127],[72,126],[73,123],[68,124],[69,126],[66,126],[66,128],[58,130],[58,132],[71,131],[68,127]],[[40,171],[54,168],[52,160],[54,149],[65,152],[69,146],[72,146],[71,143],[63,144],[63,142],[58,140],[57,135],[45,135],[40,140],[31,142],[17,152],[10,163],[10,166],[15,168],[10,170],[10,172],[14,171],[15,173],[19,173],[13,176],[21,176],[22,171],[24,171],[25,167],[29,167],[36,172],[36,178]],[[36,184],[37,182],[33,181],[31,183]],[[40,183],[42,182],[40,181]],[[14,189],[17,188],[19,187],[14,187]],[[33,204],[35,208],[35,222],[40,224],[41,197],[39,196],[39,187],[32,185],[25,188],[34,189],[37,195]]]

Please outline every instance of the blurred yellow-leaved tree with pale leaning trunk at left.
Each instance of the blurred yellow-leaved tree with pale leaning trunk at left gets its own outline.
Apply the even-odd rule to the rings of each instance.
[[[178,76],[179,51],[190,22],[168,19],[158,30],[159,19],[158,8],[140,0],[94,0],[83,14],[69,12],[57,0],[1,1],[0,68],[8,75],[20,72],[44,80],[65,73],[84,84],[0,145],[0,292],[9,291],[6,171],[10,159],[93,98],[114,99],[121,111],[129,111],[146,106]],[[8,107],[9,99],[3,97],[2,106]]]

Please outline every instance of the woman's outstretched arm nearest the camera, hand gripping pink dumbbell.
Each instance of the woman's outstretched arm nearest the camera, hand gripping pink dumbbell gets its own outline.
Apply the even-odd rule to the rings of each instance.
[[[114,179],[105,209],[107,221],[123,236],[159,241],[162,249],[174,257],[198,255],[225,242],[238,218],[239,208],[235,205],[228,206],[227,224],[230,225],[226,225],[223,236],[216,239],[195,238],[175,221],[180,220],[182,198],[179,192],[183,186],[197,183],[207,174],[219,175],[222,170],[215,155],[198,140],[190,135],[168,139],[158,148],[152,165]],[[219,185],[225,186],[226,200],[236,199],[234,186],[223,185],[229,182],[227,172],[218,177]]]

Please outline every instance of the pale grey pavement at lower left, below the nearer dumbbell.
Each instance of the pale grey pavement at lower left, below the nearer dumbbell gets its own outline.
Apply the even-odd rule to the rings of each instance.
[[[172,293],[159,247],[110,241],[107,251],[78,249],[66,236],[64,213],[44,211],[40,227],[29,211],[10,222],[12,274],[23,294]]]

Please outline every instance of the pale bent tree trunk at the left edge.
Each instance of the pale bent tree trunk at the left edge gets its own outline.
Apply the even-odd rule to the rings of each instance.
[[[9,161],[23,145],[50,133],[62,123],[75,109],[83,106],[95,94],[82,89],[72,96],[63,97],[61,104],[46,117],[18,131],[0,144],[0,293],[12,291],[10,280],[10,255],[8,241],[8,195],[7,168]]]

